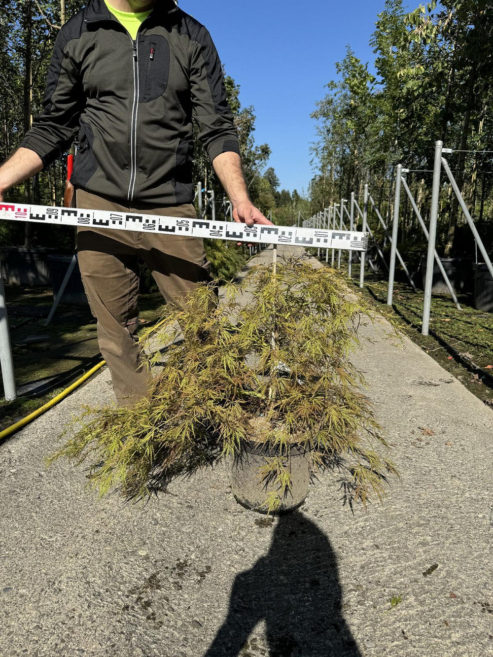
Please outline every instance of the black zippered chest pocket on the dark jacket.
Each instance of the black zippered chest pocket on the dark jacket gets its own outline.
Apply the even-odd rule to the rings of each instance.
[[[153,35],[139,43],[140,102],[154,101],[166,91],[170,78],[170,44]]]

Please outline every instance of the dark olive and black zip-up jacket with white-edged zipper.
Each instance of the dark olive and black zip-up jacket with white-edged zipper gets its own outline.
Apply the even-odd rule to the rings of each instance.
[[[44,110],[21,146],[47,166],[80,128],[75,187],[132,207],[189,203],[193,118],[211,160],[239,153],[204,26],[173,0],[157,0],[133,41],[103,0],[89,0],[57,36]]]

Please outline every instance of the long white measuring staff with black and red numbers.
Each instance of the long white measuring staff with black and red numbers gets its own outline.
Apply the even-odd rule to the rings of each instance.
[[[349,251],[365,251],[368,233],[356,231],[334,231],[296,226],[247,226],[231,221],[209,219],[177,219],[154,214],[136,212],[108,212],[107,210],[84,210],[83,208],[51,208],[49,206],[21,203],[0,204],[0,219],[7,221],[30,221],[32,223],[54,223],[62,226],[84,226],[121,231],[147,231],[168,235],[209,237],[235,242],[260,242],[261,244],[287,244],[290,246],[312,246],[338,248]]]

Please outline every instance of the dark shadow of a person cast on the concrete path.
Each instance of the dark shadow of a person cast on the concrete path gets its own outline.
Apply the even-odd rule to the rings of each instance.
[[[361,657],[342,616],[327,537],[299,511],[277,522],[268,554],[235,579],[227,618],[204,657],[266,654],[248,641],[262,620],[270,657]]]

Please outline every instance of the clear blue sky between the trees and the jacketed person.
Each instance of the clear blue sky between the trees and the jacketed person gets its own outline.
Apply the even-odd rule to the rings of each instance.
[[[417,7],[419,2],[410,3]],[[312,177],[310,112],[335,78],[346,45],[373,64],[368,41],[385,0],[179,0],[212,34],[226,71],[253,105],[255,139],[272,148],[281,187],[308,188]]]

